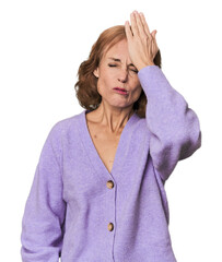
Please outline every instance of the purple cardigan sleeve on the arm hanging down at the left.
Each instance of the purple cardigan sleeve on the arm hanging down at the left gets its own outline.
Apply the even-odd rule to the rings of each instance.
[[[35,170],[22,218],[23,262],[59,261],[66,202],[62,200],[59,124],[50,130]]]

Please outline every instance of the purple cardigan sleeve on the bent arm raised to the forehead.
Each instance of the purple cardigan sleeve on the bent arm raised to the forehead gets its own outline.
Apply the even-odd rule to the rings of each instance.
[[[138,78],[148,99],[145,121],[150,132],[150,155],[165,182],[177,162],[191,156],[201,146],[199,119],[171,86],[161,68],[142,68]]]

